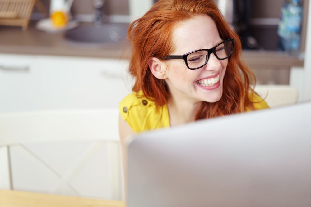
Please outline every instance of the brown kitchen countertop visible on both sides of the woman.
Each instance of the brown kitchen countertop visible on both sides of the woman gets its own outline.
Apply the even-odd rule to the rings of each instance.
[[[84,44],[64,38],[64,32],[47,33],[35,28],[31,22],[28,29],[0,26],[0,53],[77,56],[94,58],[128,58],[125,44]],[[244,50],[244,61],[251,67],[289,68],[302,67],[304,61],[284,52]]]

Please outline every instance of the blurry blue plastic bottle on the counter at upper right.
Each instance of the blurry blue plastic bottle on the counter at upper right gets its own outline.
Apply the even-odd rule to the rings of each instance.
[[[281,8],[278,35],[281,47],[290,55],[297,56],[300,51],[302,11],[300,0],[290,0]]]

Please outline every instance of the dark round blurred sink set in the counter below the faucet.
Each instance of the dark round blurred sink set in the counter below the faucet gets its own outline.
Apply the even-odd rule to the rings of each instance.
[[[122,43],[126,39],[128,26],[125,23],[81,24],[68,30],[65,38],[78,43]]]

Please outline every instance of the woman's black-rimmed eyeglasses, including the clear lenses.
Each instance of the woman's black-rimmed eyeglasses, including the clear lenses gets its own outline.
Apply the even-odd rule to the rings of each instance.
[[[184,55],[169,55],[163,60],[183,59],[191,70],[202,68],[206,65],[211,53],[214,53],[218,60],[225,60],[233,53],[234,39],[227,39],[211,49],[200,49],[188,52]]]

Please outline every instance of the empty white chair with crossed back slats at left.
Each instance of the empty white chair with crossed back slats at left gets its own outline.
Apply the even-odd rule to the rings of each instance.
[[[108,159],[107,169],[109,172],[107,173],[108,176],[103,179],[108,180],[106,183],[108,183],[107,185],[109,185],[111,191],[108,198],[105,198],[123,200],[123,176],[118,135],[118,113],[118,109],[1,113],[0,189],[16,190],[13,185],[14,176],[12,176],[12,174],[14,174],[12,172],[14,169],[12,169],[12,163],[10,161],[11,150],[19,146],[22,148],[23,153],[30,154],[29,156],[32,156],[34,160],[36,160],[34,162],[42,164],[44,170],[50,170],[53,176],[56,177],[57,181],[53,189],[49,189],[49,193],[66,195],[66,192],[62,192],[62,189],[70,189],[71,195],[73,193],[73,196],[81,196],[79,195],[79,191],[75,190],[70,184],[70,181],[77,178],[77,175],[79,175],[79,173],[85,169],[88,162],[92,160],[91,158],[105,145]],[[36,142],[62,144],[68,141],[87,141],[91,144],[86,147],[86,150],[84,150],[81,155],[77,156],[63,175],[57,173],[56,170],[53,169],[53,166],[47,164],[44,159],[27,148],[27,144]],[[58,153],[57,151],[51,151],[53,153]],[[68,152],[69,151],[70,149],[68,149]],[[62,162],[62,160],[56,160],[56,162]],[[98,163],[98,166],[101,165],[104,165],[104,163]],[[21,166],[23,166],[22,163]],[[27,166],[24,166],[20,170],[26,171],[26,169]],[[22,172],[19,173],[21,174]],[[29,178],[25,176],[23,179]],[[33,182],[36,182],[36,180]],[[85,188],[85,186],[82,186],[82,188]]]

